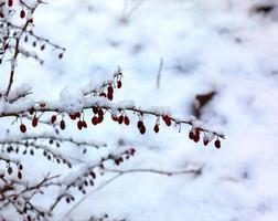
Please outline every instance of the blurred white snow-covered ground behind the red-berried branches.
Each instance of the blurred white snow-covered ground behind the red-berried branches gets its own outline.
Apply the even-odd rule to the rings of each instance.
[[[74,203],[62,203],[55,220],[83,221],[104,212],[130,221],[278,220],[278,12],[255,13],[259,2],[271,1],[60,0],[36,11],[38,34],[67,50],[62,61],[46,52],[43,66],[19,63],[15,84],[28,80],[35,98],[58,98],[64,86],[86,85],[119,65],[125,76],[116,101],[165,106],[188,118],[195,95],[215,91],[201,118],[226,135],[217,150],[190,141],[185,127],[154,135],[152,117],[143,136],[136,118],[130,127],[106,120],[81,133],[68,128],[70,135],[110,147],[119,139],[133,146],[138,154],[126,169],[179,171],[193,164],[203,170],[197,177],[125,175],[99,191],[92,188],[70,214]]]

